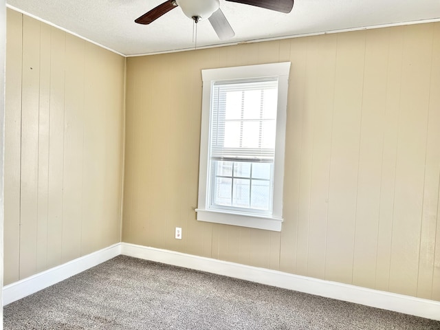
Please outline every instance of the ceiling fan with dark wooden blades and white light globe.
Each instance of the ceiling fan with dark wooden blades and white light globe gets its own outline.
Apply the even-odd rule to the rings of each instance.
[[[292,11],[294,0],[226,0],[254,5],[256,7],[288,13]],[[168,0],[135,19],[135,23],[150,24],[170,10],[180,7],[186,17],[198,23],[208,19],[219,39],[230,39],[235,33],[220,9],[220,0]]]

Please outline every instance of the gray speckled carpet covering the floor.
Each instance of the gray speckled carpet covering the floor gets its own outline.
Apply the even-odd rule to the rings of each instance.
[[[128,256],[3,314],[4,329],[440,329],[438,321]]]

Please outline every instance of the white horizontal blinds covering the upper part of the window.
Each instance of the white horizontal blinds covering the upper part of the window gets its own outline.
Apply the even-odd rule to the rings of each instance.
[[[212,83],[210,158],[273,162],[278,78]]]

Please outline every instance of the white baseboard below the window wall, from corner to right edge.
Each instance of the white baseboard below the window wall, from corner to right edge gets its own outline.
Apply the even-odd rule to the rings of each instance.
[[[370,307],[388,309],[399,313],[440,320],[440,302],[393,294],[355,285],[323,281],[317,278],[288,274],[276,270],[230,263],[191,254],[184,254],[142,245],[121,243],[121,254],[168,265],[201,270],[213,274],[240,278],[247,281],[282,287],[307,294],[315,294]]]

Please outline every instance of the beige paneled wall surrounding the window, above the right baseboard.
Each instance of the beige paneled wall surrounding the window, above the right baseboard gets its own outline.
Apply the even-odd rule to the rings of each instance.
[[[200,70],[281,61],[283,230],[196,221]],[[440,300],[440,23],[129,58],[126,77],[124,242]]]

